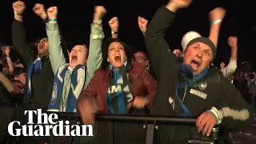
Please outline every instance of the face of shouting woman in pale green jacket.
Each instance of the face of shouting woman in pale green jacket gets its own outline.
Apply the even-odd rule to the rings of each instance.
[[[75,66],[86,64],[88,49],[86,46],[74,46],[70,52],[70,67],[74,69]]]

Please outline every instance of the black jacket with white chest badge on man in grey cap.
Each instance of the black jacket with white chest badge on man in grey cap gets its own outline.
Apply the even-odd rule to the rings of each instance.
[[[175,14],[173,12],[166,9],[166,7],[161,7],[146,30],[146,50],[149,54],[151,67],[158,79],[156,104],[153,106],[151,114],[180,116],[182,113],[181,106],[175,105],[173,107],[169,101],[169,98],[174,98],[176,94],[176,86],[184,80],[184,76],[177,70],[180,61],[169,50],[169,46],[164,39],[164,34],[174,22],[174,18]],[[198,96],[195,91],[204,94],[206,97]],[[252,110],[242,98],[240,92],[223,77],[219,70],[214,68],[210,69],[201,81],[180,90],[178,95],[183,104],[190,110],[192,117],[196,118],[206,110],[210,110],[212,106],[218,110],[222,110],[224,107],[230,108],[230,111],[245,110],[245,112],[241,111],[241,113],[247,114],[244,121],[234,120],[233,117],[223,118],[221,126],[226,128],[225,130],[244,130],[250,126],[253,119]]]

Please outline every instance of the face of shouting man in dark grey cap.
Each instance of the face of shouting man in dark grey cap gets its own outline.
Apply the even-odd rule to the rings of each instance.
[[[195,42],[189,46],[184,54],[183,63],[193,69],[194,76],[209,68],[213,60],[213,52],[202,42]]]

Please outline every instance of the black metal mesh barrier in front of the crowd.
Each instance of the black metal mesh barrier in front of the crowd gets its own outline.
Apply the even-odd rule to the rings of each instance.
[[[78,114],[56,114],[59,119],[69,120],[70,125],[82,124]],[[98,115],[93,137],[51,137],[45,138],[47,139],[45,142],[50,144],[211,144],[218,139],[217,128],[214,128],[210,137],[205,137],[197,132],[195,122],[194,118]],[[38,143],[37,138],[32,139],[35,140],[31,143]]]

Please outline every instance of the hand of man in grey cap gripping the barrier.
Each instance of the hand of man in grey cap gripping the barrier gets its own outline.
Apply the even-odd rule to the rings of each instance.
[[[198,117],[196,126],[198,127],[198,132],[202,131],[202,134],[210,136],[216,123],[214,116],[206,111]]]

